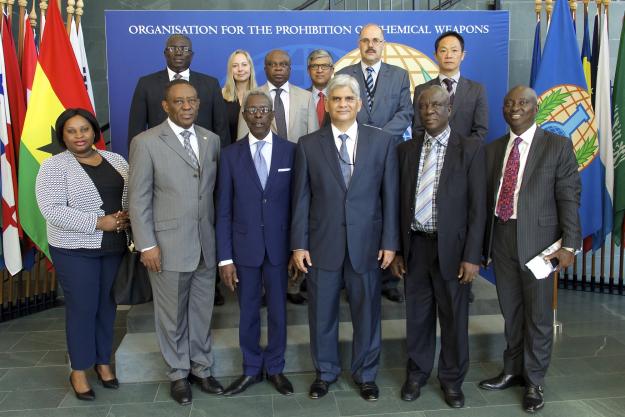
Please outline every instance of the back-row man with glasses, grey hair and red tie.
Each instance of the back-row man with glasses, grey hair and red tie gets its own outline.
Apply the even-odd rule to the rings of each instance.
[[[308,88],[312,95],[313,106],[317,112],[319,127],[327,126],[330,117],[325,111],[325,96],[328,94],[326,87],[332,75],[334,75],[334,62],[332,55],[325,49],[315,49],[308,54],[308,75],[312,85]]]

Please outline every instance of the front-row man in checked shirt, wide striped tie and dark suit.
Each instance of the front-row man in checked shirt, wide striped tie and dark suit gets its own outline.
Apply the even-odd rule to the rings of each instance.
[[[405,277],[405,401],[419,397],[434,365],[436,311],[441,327],[438,380],[445,402],[464,406],[469,369],[469,285],[479,271],[486,224],[482,141],[449,127],[449,94],[430,86],[417,98],[424,133],[397,147],[402,253],[392,270]]]

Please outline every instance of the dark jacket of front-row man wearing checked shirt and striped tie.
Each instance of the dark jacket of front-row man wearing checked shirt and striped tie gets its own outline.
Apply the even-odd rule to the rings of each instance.
[[[397,147],[401,241],[406,259],[424,136],[421,134]],[[446,280],[457,279],[461,261],[480,264],[486,226],[484,155],[481,140],[464,138],[452,129],[436,192],[439,268]]]

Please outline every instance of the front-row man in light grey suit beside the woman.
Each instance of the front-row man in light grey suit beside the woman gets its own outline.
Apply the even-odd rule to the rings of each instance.
[[[164,97],[168,118],[130,145],[128,196],[134,242],[150,273],[171,396],[186,405],[189,381],[204,392],[223,392],[211,376],[210,332],[219,137],[194,124],[200,101],[188,81],[172,81]]]

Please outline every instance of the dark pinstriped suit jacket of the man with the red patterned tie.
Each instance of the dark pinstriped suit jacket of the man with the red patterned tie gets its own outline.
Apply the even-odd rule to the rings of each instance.
[[[485,258],[490,258],[497,191],[509,135],[486,145],[487,224]],[[579,222],[581,181],[571,141],[536,129],[527,155],[517,201],[519,262],[525,263],[562,238],[562,246],[582,244]]]

